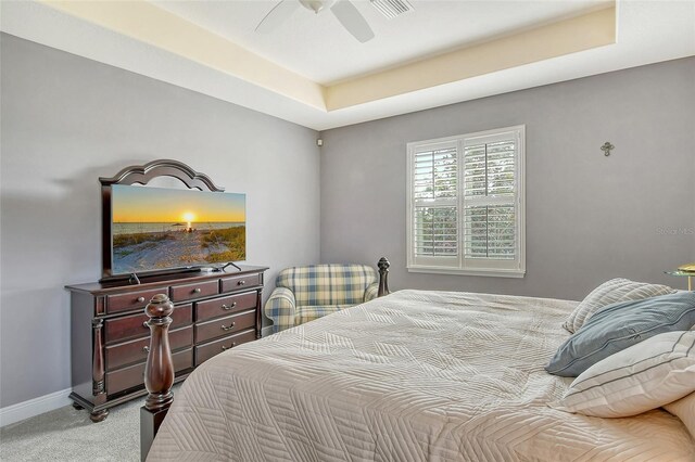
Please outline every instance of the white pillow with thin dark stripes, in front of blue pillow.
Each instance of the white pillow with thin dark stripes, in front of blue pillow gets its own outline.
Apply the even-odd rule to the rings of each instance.
[[[695,331],[658,334],[605,358],[551,408],[596,418],[627,418],[695,392]]]

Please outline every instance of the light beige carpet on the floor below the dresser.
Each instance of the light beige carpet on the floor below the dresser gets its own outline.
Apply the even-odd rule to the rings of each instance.
[[[111,408],[106,420],[100,423],[92,423],[86,410],[66,406],[7,425],[0,428],[0,461],[137,462],[143,403],[141,397]]]

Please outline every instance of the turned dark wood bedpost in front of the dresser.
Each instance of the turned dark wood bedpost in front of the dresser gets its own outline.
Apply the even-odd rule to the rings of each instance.
[[[174,304],[166,295],[157,294],[144,307],[144,312],[150,318],[146,325],[150,328],[151,336],[144,367],[144,387],[149,394],[144,406],[140,408],[141,460],[147,458],[156,431],[174,401],[174,362],[168,334]]]

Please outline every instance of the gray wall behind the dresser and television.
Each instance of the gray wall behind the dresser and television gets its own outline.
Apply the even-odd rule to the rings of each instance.
[[[248,262],[319,258],[317,133],[1,36],[0,407],[70,387],[65,284],[101,275],[100,176],[155,158],[247,193]],[[266,296],[269,293],[266,291]]]

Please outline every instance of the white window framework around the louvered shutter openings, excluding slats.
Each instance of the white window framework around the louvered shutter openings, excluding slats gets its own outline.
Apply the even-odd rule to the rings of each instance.
[[[508,140],[509,133],[516,138],[515,180],[517,183],[516,195],[511,201],[516,214],[516,253],[517,258],[511,260],[494,258],[466,258],[465,257],[465,226],[464,209],[467,203],[481,202],[480,200],[466,198],[464,195],[464,147],[470,145],[476,139],[479,142],[492,142],[491,140]],[[418,202],[414,197],[414,164],[417,153],[432,151],[437,147],[456,145],[457,162],[457,256],[415,256],[415,207]],[[407,152],[407,178],[406,178],[406,241],[407,241],[407,270],[408,272],[483,275],[498,278],[523,278],[526,274],[526,125],[496,128],[492,130],[477,131],[472,133],[457,134],[453,137],[437,138],[432,140],[413,141],[406,145]],[[469,202],[470,201],[470,202]],[[452,202],[452,200],[431,200],[432,204]],[[482,202],[504,202],[509,200],[488,197]],[[425,201],[420,202],[420,204]]]

